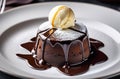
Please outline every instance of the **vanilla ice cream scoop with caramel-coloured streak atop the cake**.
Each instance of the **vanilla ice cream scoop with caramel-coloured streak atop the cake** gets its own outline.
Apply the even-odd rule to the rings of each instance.
[[[53,28],[69,28],[75,25],[75,15],[71,8],[65,5],[54,7],[49,13],[49,21]]]

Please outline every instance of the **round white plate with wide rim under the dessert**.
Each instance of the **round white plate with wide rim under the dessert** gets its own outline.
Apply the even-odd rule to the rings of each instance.
[[[16,53],[29,53],[20,44],[36,35],[38,26],[46,21],[49,11],[56,5],[70,6],[77,22],[84,23],[90,37],[101,40],[101,50],[108,56],[104,63],[91,66],[89,71],[66,76],[56,68],[34,70]],[[101,6],[73,2],[48,2],[18,7],[0,15],[0,69],[6,73],[41,79],[86,79],[107,77],[120,72],[120,13]]]

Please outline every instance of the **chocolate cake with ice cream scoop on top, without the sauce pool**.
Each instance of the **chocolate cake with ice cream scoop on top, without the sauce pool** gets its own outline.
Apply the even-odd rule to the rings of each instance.
[[[87,29],[75,24],[70,8],[56,6],[49,14],[49,21],[39,27],[35,50],[37,60],[49,65],[68,67],[80,64],[90,55]]]

